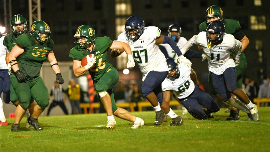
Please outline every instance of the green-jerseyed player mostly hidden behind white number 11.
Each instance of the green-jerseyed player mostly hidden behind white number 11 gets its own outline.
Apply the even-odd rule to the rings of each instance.
[[[242,43],[242,52],[244,49],[247,47],[249,44],[249,40],[247,36],[241,31],[241,26],[237,20],[232,20],[232,19],[224,19],[223,18],[223,11],[220,7],[212,5],[209,8],[207,8],[206,13],[205,13],[205,18],[206,21],[201,23],[199,25],[199,30],[200,32],[206,31],[207,26],[209,23],[211,23],[214,20],[219,20],[222,21],[225,25],[225,33],[231,34],[235,37],[235,39],[241,41]],[[234,53],[234,50],[230,52],[232,55]],[[235,67],[236,70],[236,77],[237,77],[237,87],[239,89],[242,89],[242,82],[243,82],[243,72],[247,68],[247,60],[245,57],[244,53],[241,53],[240,55],[240,63],[238,66]],[[210,87],[210,92],[217,97],[220,101],[222,99],[220,98],[219,94],[217,94],[216,91],[214,91],[214,87],[212,84],[212,77],[209,74],[208,77],[208,82],[209,82],[209,87]],[[236,108],[232,107],[229,105],[230,108],[230,115],[226,120],[239,120],[239,113],[236,110]]]

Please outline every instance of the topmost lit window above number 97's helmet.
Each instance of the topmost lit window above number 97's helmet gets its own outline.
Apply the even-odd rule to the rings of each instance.
[[[116,0],[115,1],[115,15],[131,15],[131,1]]]

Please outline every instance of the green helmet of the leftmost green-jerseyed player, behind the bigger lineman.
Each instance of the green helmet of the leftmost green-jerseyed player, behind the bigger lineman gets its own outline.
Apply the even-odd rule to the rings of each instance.
[[[15,25],[18,25],[18,24],[23,24],[23,27],[16,27],[15,28]],[[27,20],[25,19],[25,17],[23,17],[20,14],[14,15],[12,17],[12,19],[11,19],[10,26],[12,28],[12,32],[13,33],[16,33],[17,35],[21,35],[24,32],[26,32],[26,29],[27,29]]]

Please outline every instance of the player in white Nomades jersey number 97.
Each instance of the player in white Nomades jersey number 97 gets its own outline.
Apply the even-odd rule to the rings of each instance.
[[[160,29],[156,26],[145,27],[143,19],[139,16],[128,18],[125,24],[125,32],[118,36],[117,41],[126,42],[130,45],[133,58],[143,73],[142,93],[156,111],[154,124],[160,125],[163,123],[166,114],[173,119],[170,126],[181,125],[183,123],[182,118],[177,116],[162,99],[161,83],[167,77],[168,66],[158,44],[170,44],[179,56],[176,58],[177,62],[183,62],[186,66],[191,66],[191,62],[182,55],[173,39],[161,35]],[[122,52],[123,50],[113,50],[111,55],[116,57]]]

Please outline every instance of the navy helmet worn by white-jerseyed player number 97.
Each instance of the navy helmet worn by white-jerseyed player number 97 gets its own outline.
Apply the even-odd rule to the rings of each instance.
[[[136,32],[134,29],[136,29]],[[144,21],[139,16],[131,16],[126,21],[125,34],[128,40],[134,42],[137,41],[137,39],[143,34],[144,29],[145,29]]]

